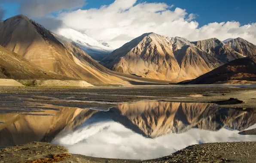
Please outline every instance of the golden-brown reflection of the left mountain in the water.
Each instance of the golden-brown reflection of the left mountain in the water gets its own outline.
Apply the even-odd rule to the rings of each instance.
[[[48,109],[52,108],[52,109]],[[0,109],[2,112],[3,109]],[[51,142],[62,130],[70,130],[93,115],[94,110],[47,106],[37,114],[6,112],[0,114],[0,146],[29,142]],[[39,114],[41,113],[41,114]]]

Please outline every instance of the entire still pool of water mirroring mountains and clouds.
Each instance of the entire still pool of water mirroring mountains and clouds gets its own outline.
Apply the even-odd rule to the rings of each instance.
[[[254,135],[238,134],[256,128],[253,109],[152,100],[106,111],[47,106],[53,107],[44,115],[0,114],[0,145],[45,141],[73,154],[151,159],[200,143],[256,141]]]

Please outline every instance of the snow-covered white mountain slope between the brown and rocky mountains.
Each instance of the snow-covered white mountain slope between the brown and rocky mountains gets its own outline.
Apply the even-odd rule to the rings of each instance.
[[[76,42],[76,44],[94,60],[101,60],[114,50],[106,42],[103,42],[102,40],[97,41],[86,34],[80,33],[69,27],[60,27],[53,32],[72,42]]]

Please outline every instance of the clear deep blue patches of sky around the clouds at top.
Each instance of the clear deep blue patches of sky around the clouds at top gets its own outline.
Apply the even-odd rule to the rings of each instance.
[[[138,0],[137,3],[145,0]],[[200,26],[211,22],[239,21],[241,24],[256,22],[255,0],[146,0],[149,3],[167,3],[186,9],[188,13],[194,13]],[[99,8],[101,5],[109,5],[114,0],[87,0],[82,9]],[[2,3],[6,10],[4,19],[20,14],[18,3]]]

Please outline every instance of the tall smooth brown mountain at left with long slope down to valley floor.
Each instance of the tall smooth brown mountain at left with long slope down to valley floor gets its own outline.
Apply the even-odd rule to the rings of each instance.
[[[0,45],[49,72],[92,85],[163,83],[112,72],[93,60],[75,42],[61,38],[24,15],[0,21]]]

